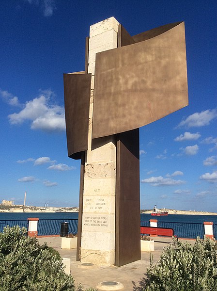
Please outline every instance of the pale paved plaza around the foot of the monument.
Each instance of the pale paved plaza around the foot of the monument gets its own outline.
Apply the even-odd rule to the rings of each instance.
[[[146,269],[149,267],[149,252],[141,252],[141,259],[124,265],[122,267],[115,266],[82,266],[81,262],[76,261],[76,249],[61,249],[61,237],[40,237],[40,243],[47,242],[48,246],[52,246],[59,251],[62,258],[71,259],[71,275],[75,279],[75,284],[80,283],[84,288],[94,287],[103,281],[115,281],[124,285],[123,291],[141,290],[144,286],[144,278],[146,278]],[[186,242],[186,240],[183,240]],[[194,240],[189,240],[194,243]],[[159,260],[159,255],[163,248],[172,243],[171,238],[155,238],[154,261]],[[98,290],[100,290],[98,288]],[[114,290],[114,289],[107,289]]]

